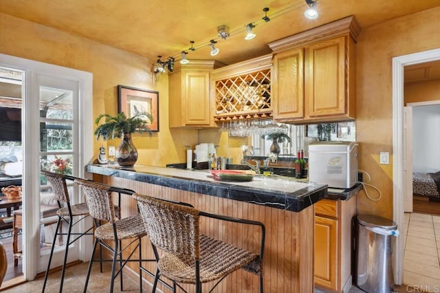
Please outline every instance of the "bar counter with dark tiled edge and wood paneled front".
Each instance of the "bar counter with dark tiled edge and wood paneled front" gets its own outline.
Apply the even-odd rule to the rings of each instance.
[[[188,171],[153,166],[113,169],[88,165],[94,180],[129,188],[153,197],[187,202],[209,213],[261,221],[265,224],[265,292],[314,292],[314,203],[327,195],[327,186],[291,180],[257,177],[252,182],[219,182],[207,171]],[[131,197],[122,197],[122,217],[137,213]],[[214,219],[201,222],[203,234],[235,246],[258,252],[259,228],[224,223]],[[153,258],[145,237],[142,257]],[[155,263],[145,263],[155,272]],[[136,263],[129,268],[139,273]],[[149,276],[144,277],[152,282]],[[212,283],[203,284],[207,292]],[[184,285],[188,292],[193,285]],[[162,288],[163,289],[163,288]],[[224,279],[214,292],[258,292],[258,278],[239,270]]]

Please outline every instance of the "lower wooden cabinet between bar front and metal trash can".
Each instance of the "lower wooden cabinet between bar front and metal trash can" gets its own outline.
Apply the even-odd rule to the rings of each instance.
[[[315,205],[314,281],[331,292],[348,292],[352,283],[353,219],[356,195],[322,199]]]

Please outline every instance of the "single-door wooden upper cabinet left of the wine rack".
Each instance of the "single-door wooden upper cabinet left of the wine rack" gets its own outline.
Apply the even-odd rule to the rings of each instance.
[[[196,61],[181,65],[168,76],[169,126],[214,127],[210,102],[210,72],[221,67],[217,61]]]

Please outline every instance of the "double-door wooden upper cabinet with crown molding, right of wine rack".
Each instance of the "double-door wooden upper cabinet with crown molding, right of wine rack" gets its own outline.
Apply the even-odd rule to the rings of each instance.
[[[355,40],[347,17],[270,43],[274,120],[294,124],[354,120]]]

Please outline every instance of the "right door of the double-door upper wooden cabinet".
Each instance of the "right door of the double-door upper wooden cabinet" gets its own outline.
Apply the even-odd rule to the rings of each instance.
[[[306,48],[306,116],[347,113],[346,43],[346,36],[340,36]]]

